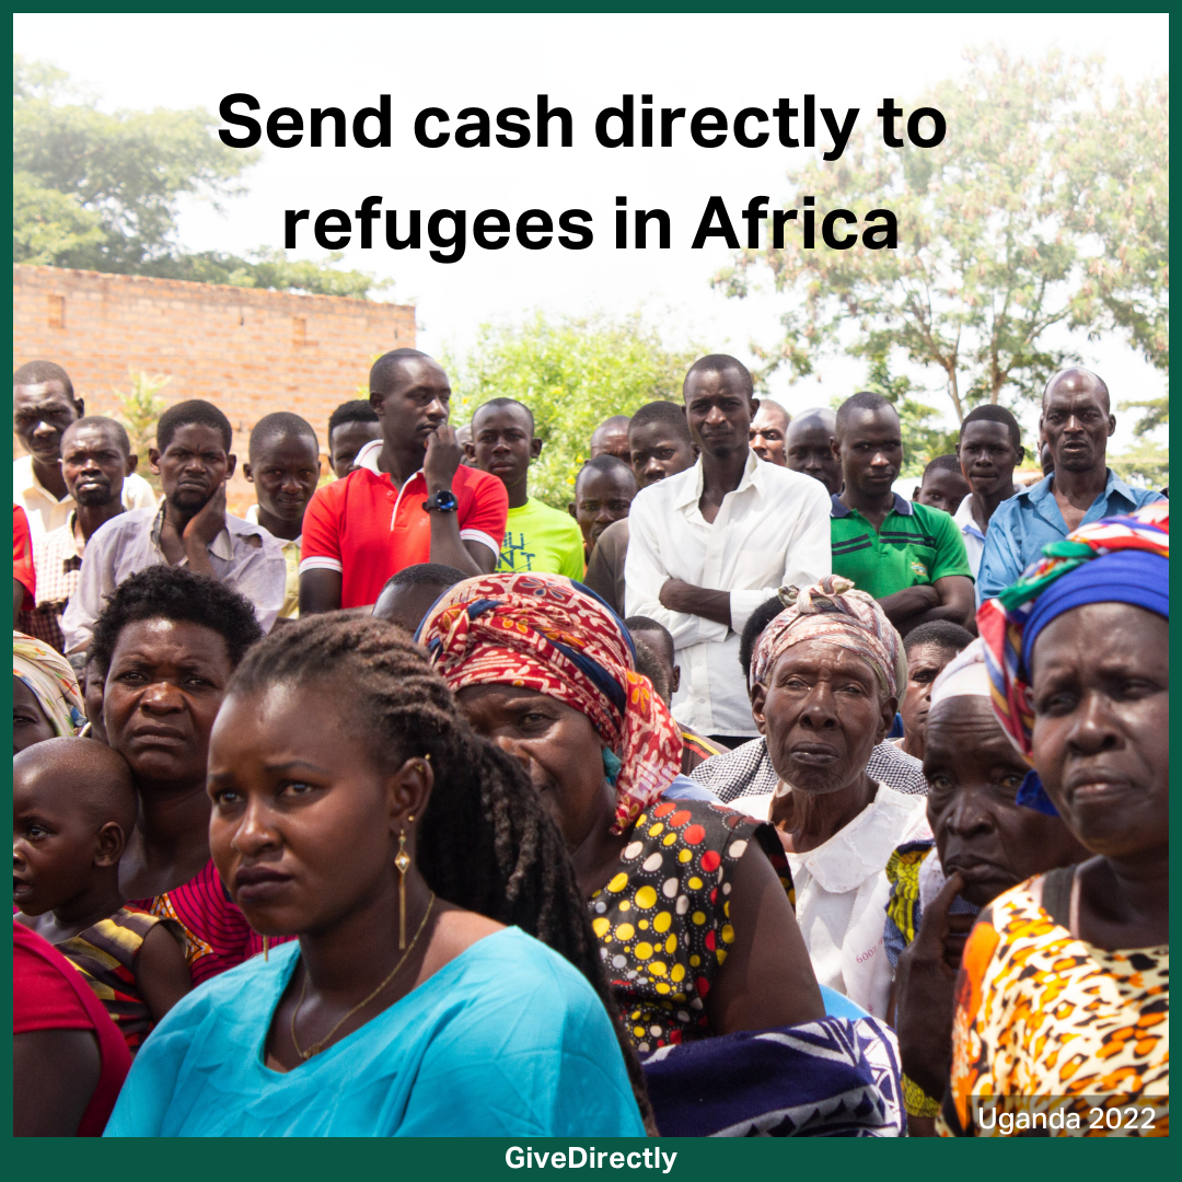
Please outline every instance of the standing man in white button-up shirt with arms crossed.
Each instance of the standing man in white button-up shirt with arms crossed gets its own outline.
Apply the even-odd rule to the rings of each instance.
[[[682,673],[674,717],[734,746],[759,733],[739,665],[740,634],[781,585],[831,573],[829,494],[748,447],[759,401],[741,362],[701,358],[683,395],[701,456],[632,501],[626,609],[673,635]]]

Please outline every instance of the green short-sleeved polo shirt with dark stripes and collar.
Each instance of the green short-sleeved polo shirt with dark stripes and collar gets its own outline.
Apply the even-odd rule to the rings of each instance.
[[[960,526],[942,509],[896,493],[895,507],[877,530],[837,495],[831,512],[833,573],[876,599],[948,574],[973,578]]]

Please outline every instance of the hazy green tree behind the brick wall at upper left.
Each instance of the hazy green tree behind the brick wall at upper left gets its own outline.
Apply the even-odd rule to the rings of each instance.
[[[290,262],[265,247],[251,258],[181,249],[180,200],[220,208],[243,191],[239,178],[258,160],[223,144],[217,123],[200,108],[106,113],[63,71],[14,54],[14,260],[324,296],[365,298],[389,286],[336,269],[340,254]]]

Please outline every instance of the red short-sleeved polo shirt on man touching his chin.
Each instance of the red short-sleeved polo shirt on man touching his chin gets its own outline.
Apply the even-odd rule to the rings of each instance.
[[[357,453],[357,467],[318,488],[304,513],[299,572],[339,571],[342,608],[377,603],[391,574],[430,561],[427,478],[420,469],[400,491],[388,473],[378,472],[381,453],[382,440],[366,443]],[[505,486],[487,472],[461,466],[452,492],[460,538],[499,554],[509,506]]]

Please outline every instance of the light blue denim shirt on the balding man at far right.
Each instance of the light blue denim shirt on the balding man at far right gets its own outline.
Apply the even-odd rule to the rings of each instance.
[[[1162,500],[1161,493],[1130,488],[1111,468],[1106,472],[1104,492],[1092,501],[1082,525],[1131,513],[1150,501]],[[994,509],[976,577],[978,603],[992,599],[1004,587],[1015,583],[1031,563],[1043,557],[1043,547],[1048,541],[1067,537],[1067,524],[1054,499],[1052,480],[1053,474]]]

